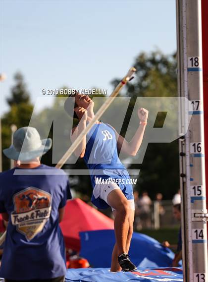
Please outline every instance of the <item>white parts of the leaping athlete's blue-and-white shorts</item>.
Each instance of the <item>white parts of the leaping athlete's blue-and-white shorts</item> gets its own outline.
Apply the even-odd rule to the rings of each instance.
[[[96,184],[93,189],[93,194],[96,198],[100,197],[102,200],[104,200],[108,204],[107,196],[112,190],[115,190],[115,189],[120,189],[120,187],[115,182],[110,182],[109,184]],[[135,210],[134,200],[131,199],[131,200],[128,200],[128,202],[129,202],[129,209]],[[112,211],[115,210],[112,207],[111,209]]]

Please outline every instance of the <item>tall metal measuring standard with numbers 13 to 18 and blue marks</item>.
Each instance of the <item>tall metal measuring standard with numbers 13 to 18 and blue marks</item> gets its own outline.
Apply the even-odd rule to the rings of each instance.
[[[176,0],[176,13],[184,281],[208,282],[201,0]]]

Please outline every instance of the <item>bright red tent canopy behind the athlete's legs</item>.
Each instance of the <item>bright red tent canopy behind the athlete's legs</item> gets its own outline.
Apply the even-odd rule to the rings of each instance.
[[[60,223],[67,248],[80,250],[80,231],[113,229],[113,220],[80,199],[67,202],[63,221]]]

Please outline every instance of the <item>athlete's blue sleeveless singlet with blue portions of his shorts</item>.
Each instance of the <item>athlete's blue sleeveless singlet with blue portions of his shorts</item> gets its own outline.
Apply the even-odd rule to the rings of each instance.
[[[85,163],[90,170],[91,182],[95,187],[95,178],[130,179],[127,169],[121,163],[117,153],[117,141],[113,128],[105,123],[94,124],[86,137]],[[125,197],[134,199],[131,184],[117,184]],[[108,204],[100,197],[92,195],[92,203],[100,209],[108,208]]]

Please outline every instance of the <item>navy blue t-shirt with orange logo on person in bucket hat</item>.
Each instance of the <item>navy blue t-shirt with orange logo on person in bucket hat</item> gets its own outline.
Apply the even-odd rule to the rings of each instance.
[[[0,277],[24,281],[64,276],[58,209],[71,198],[68,177],[45,165],[16,170],[25,175],[15,175],[15,169],[0,173],[0,213],[9,215]]]

